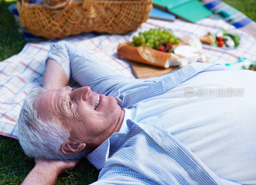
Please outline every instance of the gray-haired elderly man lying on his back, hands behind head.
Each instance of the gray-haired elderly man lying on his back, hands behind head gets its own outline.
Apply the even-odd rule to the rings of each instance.
[[[255,72],[194,63],[130,79],[64,41],[46,62],[18,128],[26,154],[52,160],[24,184],[53,184],[85,156],[102,168],[94,184],[256,184]]]

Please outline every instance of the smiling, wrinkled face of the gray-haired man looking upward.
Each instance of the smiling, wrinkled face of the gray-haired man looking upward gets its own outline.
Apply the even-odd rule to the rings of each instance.
[[[88,86],[78,89],[67,86],[44,92],[38,97],[37,105],[40,117],[57,117],[70,129],[69,139],[97,147],[118,132],[124,112],[113,96],[101,94],[94,110],[96,101],[97,93]]]

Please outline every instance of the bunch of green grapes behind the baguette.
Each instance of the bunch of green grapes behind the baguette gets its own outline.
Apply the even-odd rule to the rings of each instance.
[[[148,46],[158,49],[166,43],[179,44],[180,40],[169,29],[151,28],[145,32],[139,32],[139,36],[132,37],[131,46]]]

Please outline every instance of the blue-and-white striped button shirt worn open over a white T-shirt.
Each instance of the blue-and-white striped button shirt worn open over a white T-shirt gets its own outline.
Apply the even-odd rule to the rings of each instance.
[[[114,96],[121,108],[166,92],[203,71],[227,70],[218,64],[193,63],[172,74],[131,79],[117,74],[81,49],[61,41],[48,58],[57,61],[81,86]],[[127,120],[128,133],[114,133],[87,159],[101,169],[93,184],[236,184],[219,178],[194,153],[157,125]]]

